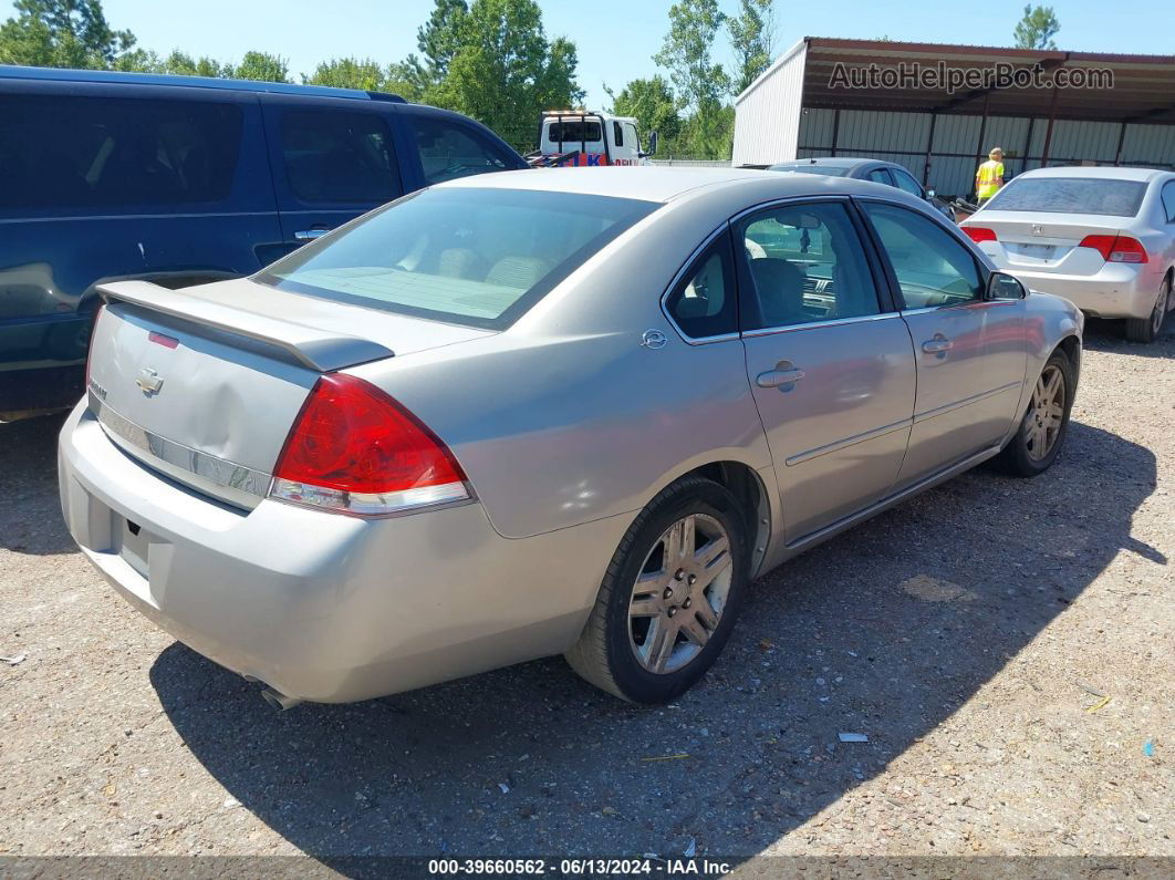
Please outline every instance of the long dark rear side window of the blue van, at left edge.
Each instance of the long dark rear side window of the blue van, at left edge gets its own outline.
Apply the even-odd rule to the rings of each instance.
[[[231,103],[0,95],[0,209],[172,208],[233,189],[243,114]]]

